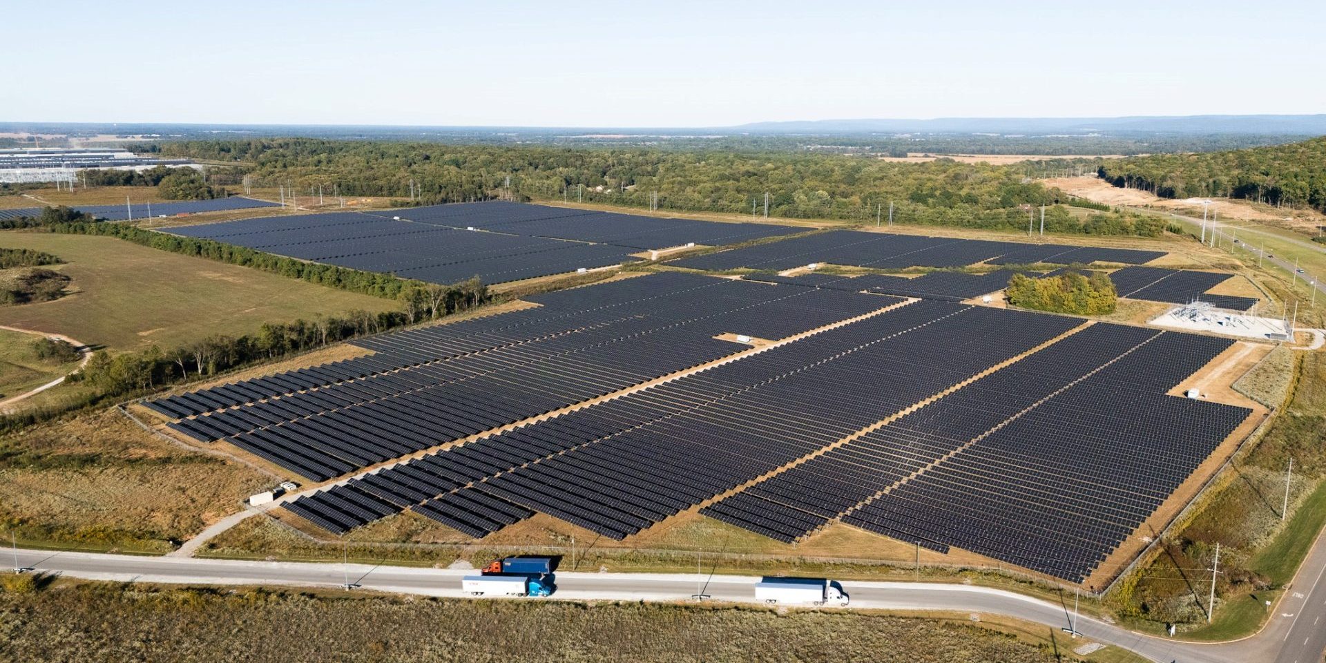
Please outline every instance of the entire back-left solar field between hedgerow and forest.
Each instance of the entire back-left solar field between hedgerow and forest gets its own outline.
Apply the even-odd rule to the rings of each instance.
[[[473,276],[499,284],[631,263],[642,249],[733,244],[797,228],[487,202],[245,219],[164,232],[436,284]]]

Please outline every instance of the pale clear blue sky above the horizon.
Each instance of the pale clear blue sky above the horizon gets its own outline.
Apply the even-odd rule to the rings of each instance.
[[[0,121],[1326,113],[1322,0],[0,4]]]

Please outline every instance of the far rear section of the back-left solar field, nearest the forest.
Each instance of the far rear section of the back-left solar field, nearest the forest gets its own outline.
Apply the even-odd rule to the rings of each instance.
[[[406,220],[452,228],[475,227],[528,237],[593,241],[635,249],[662,249],[690,243],[700,245],[737,244],[802,231],[802,228],[790,225],[659,219],[500,200],[371,213],[387,217],[399,216]]]

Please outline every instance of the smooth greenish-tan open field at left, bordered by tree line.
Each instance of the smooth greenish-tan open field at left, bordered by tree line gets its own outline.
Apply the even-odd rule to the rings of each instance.
[[[54,253],[73,294],[0,308],[0,325],[60,333],[113,351],[187,345],[264,322],[312,320],[398,302],[239,265],[141,247],[115,237],[0,232],[0,247]]]

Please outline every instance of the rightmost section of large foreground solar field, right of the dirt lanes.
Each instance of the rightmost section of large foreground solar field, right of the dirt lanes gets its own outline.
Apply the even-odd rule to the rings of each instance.
[[[1081,582],[1248,416],[1164,395],[1231,343],[1098,324],[701,513],[780,541],[842,518]]]

